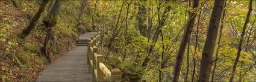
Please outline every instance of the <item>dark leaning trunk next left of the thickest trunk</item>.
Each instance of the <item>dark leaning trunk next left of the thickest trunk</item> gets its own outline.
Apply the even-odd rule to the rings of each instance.
[[[193,0],[193,8],[198,7],[198,0]],[[180,76],[180,71],[181,71],[181,65],[183,62],[183,57],[184,57],[184,52],[186,51],[186,46],[187,46],[187,42],[189,41],[189,35],[192,31],[192,27],[194,25],[195,22],[195,18],[196,18],[196,13],[190,13],[189,14],[189,21],[187,22],[186,25],[186,29],[184,31],[183,34],[183,38],[181,40],[181,45],[180,48],[178,50],[178,53],[176,54],[176,61],[175,61],[175,66],[173,68],[173,77],[172,77],[172,81],[176,82],[179,81],[179,76]]]

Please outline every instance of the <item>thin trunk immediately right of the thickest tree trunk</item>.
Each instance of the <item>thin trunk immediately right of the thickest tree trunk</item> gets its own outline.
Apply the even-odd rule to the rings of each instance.
[[[225,4],[224,4],[224,8],[225,7],[226,7],[226,1],[225,1]],[[226,13],[226,9],[223,10],[223,14],[222,14],[221,25],[220,25],[220,30],[219,30],[219,40],[217,42],[217,50],[216,50],[216,53],[215,53],[215,59],[218,59],[218,53],[219,53],[219,48],[220,48],[220,41],[221,41],[221,38],[222,38],[222,29],[223,29],[223,23],[224,23],[223,21],[225,19],[225,13]],[[211,73],[211,82],[214,81],[214,73],[215,73],[216,66],[217,66],[217,60],[214,61],[213,72]]]

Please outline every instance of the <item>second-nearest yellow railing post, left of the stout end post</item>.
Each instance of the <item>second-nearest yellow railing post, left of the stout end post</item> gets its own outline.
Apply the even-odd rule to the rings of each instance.
[[[99,63],[102,63],[102,62],[103,62],[103,56],[101,54],[98,54],[98,56],[97,56],[97,78],[98,78],[98,80],[97,81],[104,81],[104,79],[103,79],[104,74],[101,71],[101,69],[99,68]]]

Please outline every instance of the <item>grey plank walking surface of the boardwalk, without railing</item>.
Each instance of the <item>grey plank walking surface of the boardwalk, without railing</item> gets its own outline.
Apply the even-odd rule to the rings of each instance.
[[[80,40],[88,40],[96,32],[80,35]],[[36,81],[92,81],[87,65],[87,47],[78,46],[40,72]]]

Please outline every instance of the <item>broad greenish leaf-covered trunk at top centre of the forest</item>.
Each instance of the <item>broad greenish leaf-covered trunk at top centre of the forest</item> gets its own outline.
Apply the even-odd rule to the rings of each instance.
[[[139,11],[137,14],[137,20],[139,23],[139,29],[140,34],[143,35],[143,37],[146,37],[147,27],[145,25],[146,23],[146,8],[145,8],[145,0],[142,0],[141,3],[139,3]]]

